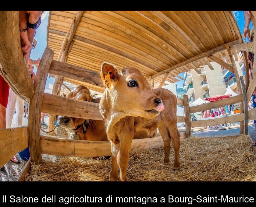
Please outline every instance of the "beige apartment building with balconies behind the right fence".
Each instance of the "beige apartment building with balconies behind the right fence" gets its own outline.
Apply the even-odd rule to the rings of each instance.
[[[235,75],[216,62],[210,64],[214,70],[211,70],[208,65],[204,65],[199,69],[201,74],[194,69],[184,74],[183,89],[189,96],[189,103],[193,103],[198,98],[224,95],[228,86],[238,93]],[[239,75],[243,75],[243,68],[240,64],[242,62],[239,59],[236,61],[236,66],[240,68]]]

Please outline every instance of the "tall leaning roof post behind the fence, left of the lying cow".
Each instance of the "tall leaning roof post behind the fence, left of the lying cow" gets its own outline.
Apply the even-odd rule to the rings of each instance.
[[[73,21],[70,24],[69,30],[66,33],[66,36],[63,40],[62,43],[62,47],[60,49],[60,53],[59,53],[59,57],[58,57],[58,61],[62,61],[62,62],[66,62],[68,53],[70,52],[71,47],[73,46],[72,41],[73,41],[73,37],[75,35],[76,32],[76,28],[78,26],[78,23],[80,22],[81,17],[83,16],[84,11],[78,11],[76,13],[76,16],[73,18]],[[70,33],[69,33],[70,31]],[[69,35],[68,35],[69,33]],[[53,88],[52,88],[52,94],[53,95],[59,95],[60,91],[61,91],[61,86],[63,83],[64,77],[55,76],[55,81],[53,84]],[[51,131],[54,128],[54,121],[55,121],[55,114],[49,114],[49,131]],[[49,133],[54,134],[54,131]]]

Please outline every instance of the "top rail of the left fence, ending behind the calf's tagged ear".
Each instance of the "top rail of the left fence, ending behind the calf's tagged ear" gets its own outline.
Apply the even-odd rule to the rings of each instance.
[[[49,73],[90,83],[95,86],[105,87],[102,83],[99,72],[69,63],[53,60]]]

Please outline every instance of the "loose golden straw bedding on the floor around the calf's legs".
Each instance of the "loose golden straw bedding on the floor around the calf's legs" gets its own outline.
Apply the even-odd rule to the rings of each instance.
[[[180,166],[172,170],[163,164],[164,149],[130,153],[127,178],[130,181],[256,181],[255,152],[248,136],[235,139],[200,139],[181,141]],[[33,165],[27,181],[108,181],[111,159],[67,158]]]

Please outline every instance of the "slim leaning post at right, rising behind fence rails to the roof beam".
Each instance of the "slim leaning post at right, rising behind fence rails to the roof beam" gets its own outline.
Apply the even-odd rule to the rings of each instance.
[[[240,81],[240,78],[239,78],[240,76],[238,74],[238,69],[236,67],[235,59],[233,57],[233,54],[230,51],[229,45],[226,44],[225,47],[228,51],[229,58],[230,58],[232,66],[233,66],[233,70],[234,70],[234,74],[235,74],[236,82],[237,82],[238,94],[242,94],[243,91],[242,91],[241,81]],[[244,79],[243,79],[243,82],[244,82]],[[242,114],[242,113],[244,113],[244,103],[240,102],[240,114]],[[240,134],[244,134],[244,121],[240,121]]]

